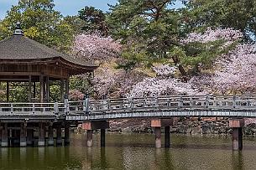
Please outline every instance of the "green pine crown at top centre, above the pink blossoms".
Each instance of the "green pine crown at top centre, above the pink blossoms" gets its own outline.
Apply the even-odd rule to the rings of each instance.
[[[110,6],[110,33],[124,44],[123,58],[129,60],[123,67],[150,65],[168,57],[180,34],[179,13],[169,8],[174,2],[119,0],[117,5]]]

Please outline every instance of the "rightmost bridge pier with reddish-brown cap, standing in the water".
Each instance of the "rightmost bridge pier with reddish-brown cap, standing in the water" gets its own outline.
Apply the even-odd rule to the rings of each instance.
[[[232,150],[241,151],[243,149],[243,119],[232,119],[229,121],[229,126],[232,127]]]

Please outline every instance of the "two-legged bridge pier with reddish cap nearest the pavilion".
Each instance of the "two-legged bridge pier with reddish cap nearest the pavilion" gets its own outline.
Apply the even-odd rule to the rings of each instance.
[[[93,130],[101,130],[101,147],[105,147],[105,130],[109,128],[108,121],[86,121],[82,123],[82,128],[87,131],[87,147],[92,147]]]

